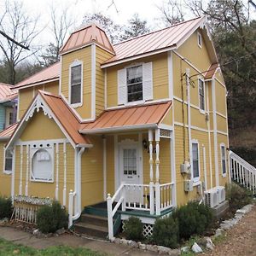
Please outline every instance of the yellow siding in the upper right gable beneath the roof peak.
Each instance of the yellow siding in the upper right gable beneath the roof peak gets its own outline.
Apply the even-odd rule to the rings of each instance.
[[[177,52],[186,58],[190,63],[193,63],[201,72],[206,71],[211,66],[210,57],[208,55],[205,40],[202,37],[202,47],[197,44],[197,32],[201,32],[201,29],[195,31],[189,39],[187,39],[178,49]],[[195,79],[195,78],[194,78]]]

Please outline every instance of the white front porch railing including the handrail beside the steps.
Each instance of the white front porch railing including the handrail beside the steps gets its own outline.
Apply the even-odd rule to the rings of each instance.
[[[173,185],[173,183],[122,183],[113,197],[108,194],[108,238],[110,240],[113,239],[113,216],[120,206],[123,212],[136,210],[160,215],[161,211],[172,207]],[[115,202],[116,204],[114,205]]]

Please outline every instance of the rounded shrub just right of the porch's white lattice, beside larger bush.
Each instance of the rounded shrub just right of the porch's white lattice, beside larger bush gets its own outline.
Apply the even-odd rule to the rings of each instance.
[[[178,244],[177,218],[159,218],[154,223],[153,241],[161,246],[176,248]]]

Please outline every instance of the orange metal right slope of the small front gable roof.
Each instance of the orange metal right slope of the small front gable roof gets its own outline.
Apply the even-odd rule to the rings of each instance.
[[[76,118],[73,111],[62,100],[61,96],[55,96],[43,90],[38,90],[38,93],[43,97],[74,143],[90,144],[90,141],[79,133],[79,119]]]

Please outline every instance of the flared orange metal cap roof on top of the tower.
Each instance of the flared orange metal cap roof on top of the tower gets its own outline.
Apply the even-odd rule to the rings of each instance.
[[[101,45],[103,48],[108,49],[114,54],[112,44],[109,42],[106,33],[99,26],[96,26],[96,24],[84,26],[73,32],[67,39],[66,44],[61,48],[60,54],[64,54],[73,49],[78,49],[93,42]]]

